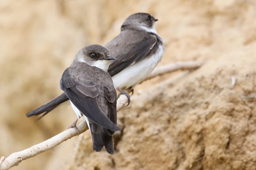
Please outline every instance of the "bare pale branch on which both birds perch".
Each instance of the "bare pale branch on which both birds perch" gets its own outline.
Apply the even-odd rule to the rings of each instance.
[[[159,68],[156,68],[145,80],[151,79],[153,77],[156,77],[158,75],[163,75],[165,73],[170,73],[173,71],[177,71],[180,69],[195,69],[200,66],[202,66],[203,62],[176,62],[174,64],[168,64],[165,66],[161,66]],[[144,80],[144,81],[145,81]],[[124,106],[127,105],[128,98],[125,95],[120,95],[120,97],[117,100],[117,112],[121,110]],[[85,132],[88,130],[88,126],[86,124],[86,121],[81,122],[77,128],[79,129],[79,134]],[[18,166],[18,164],[26,159],[29,159],[31,157],[34,157],[42,152],[45,152],[49,149],[54,148],[55,146],[61,144],[63,141],[66,141],[67,139],[70,139],[77,135],[77,131],[74,128],[69,128],[58,135],[41,142],[40,144],[36,144],[30,148],[27,148],[25,150],[22,150],[20,152],[12,153],[9,157],[4,158],[0,157],[0,170],[8,170],[9,168],[13,166]]]

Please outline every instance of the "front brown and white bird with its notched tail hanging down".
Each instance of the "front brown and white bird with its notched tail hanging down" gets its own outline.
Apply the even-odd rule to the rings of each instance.
[[[116,125],[117,93],[108,73],[113,59],[103,46],[86,46],[76,54],[60,81],[77,117],[85,116],[93,150],[99,152],[104,146],[110,154],[114,154],[112,135],[121,130]]]

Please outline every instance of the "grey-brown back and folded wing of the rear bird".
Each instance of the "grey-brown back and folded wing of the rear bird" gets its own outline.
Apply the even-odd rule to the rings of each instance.
[[[156,43],[156,36],[146,31],[121,31],[105,45],[105,48],[116,58],[111,61],[108,72],[114,76],[129,65],[142,60]]]

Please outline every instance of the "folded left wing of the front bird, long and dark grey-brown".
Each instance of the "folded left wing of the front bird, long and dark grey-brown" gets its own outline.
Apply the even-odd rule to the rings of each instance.
[[[70,101],[78,108],[83,115],[88,117],[94,123],[103,126],[109,130],[121,130],[103,113],[100,108],[97,97],[99,89],[90,81],[80,81],[70,79],[69,75],[62,77],[61,89],[65,92]]]

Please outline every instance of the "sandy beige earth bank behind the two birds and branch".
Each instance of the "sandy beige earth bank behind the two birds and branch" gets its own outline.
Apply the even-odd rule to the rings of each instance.
[[[59,80],[79,49],[106,44],[136,12],[159,19],[166,43],[159,66],[207,64],[137,86],[117,115],[123,130],[115,155],[94,152],[87,131],[13,170],[256,167],[256,6],[243,0],[1,0],[0,156],[72,124],[70,106],[37,122],[25,114],[62,93]]]

